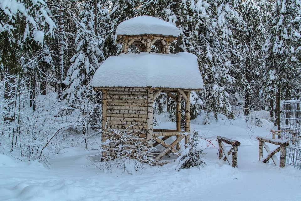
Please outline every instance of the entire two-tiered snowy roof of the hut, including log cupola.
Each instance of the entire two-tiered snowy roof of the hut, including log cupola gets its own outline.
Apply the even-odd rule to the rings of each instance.
[[[176,26],[151,16],[120,23],[116,42],[122,43],[123,53],[110,56],[99,66],[92,87],[95,90],[108,87],[202,90],[203,80],[196,55],[187,52],[169,54],[169,45],[178,35]],[[132,45],[140,49],[140,54],[127,54]],[[151,52],[153,45],[160,53]]]

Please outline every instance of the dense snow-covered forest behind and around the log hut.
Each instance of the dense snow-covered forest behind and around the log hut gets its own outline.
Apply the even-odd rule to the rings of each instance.
[[[180,29],[171,53],[197,55],[205,87],[192,93],[192,119],[256,121],[251,112],[266,110],[279,125],[281,100],[300,99],[300,0],[0,0],[0,151],[46,160],[71,133],[87,148],[101,134],[92,77],[122,53],[118,24],[141,15]],[[175,121],[174,101],[161,94],[154,105]]]

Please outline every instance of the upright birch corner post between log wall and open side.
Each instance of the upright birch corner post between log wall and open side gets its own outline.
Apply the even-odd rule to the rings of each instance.
[[[148,88],[147,89],[147,142],[148,146],[152,147],[152,137],[153,137],[153,113],[154,113],[154,106],[153,102],[154,97],[153,97],[153,89]]]

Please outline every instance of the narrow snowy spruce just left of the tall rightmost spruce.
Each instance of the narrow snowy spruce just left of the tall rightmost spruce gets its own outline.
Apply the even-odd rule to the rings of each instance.
[[[243,27],[237,32],[238,48],[243,55],[241,57],[241,69],[239,83],[245,91],[245,116],[250,114],[251,95],[255,87],[255,81],[260,79],[261,49],[265,41],[265,28],[263,20],[265,10],[254,0],[246,0],[239,5],[240,15],[243,18]],[[239,63],[240,63],[239,62]],[[256,94],[258,95],[258,94]]]

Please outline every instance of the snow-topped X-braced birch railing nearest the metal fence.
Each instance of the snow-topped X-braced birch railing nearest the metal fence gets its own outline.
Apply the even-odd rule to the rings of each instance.
[[[263,159],[263,147],[264,147],[268,154],[267,154],[267,157],[262,162],[266,163],[270,158],[272,158],[274,164],[276,165],[276,163],[279,163],[279,160],[275,156],[275,153],[280,151],[280,167],[285,166],[285,150],[286,150],[286,147],[289,145],[288,142],[282,141],[282,140],[266,138],[266,137],[260,137],[260,136],[257,136],[256,139],[259,141],[259,144],[258,144],[258,160],[259,161]],[[267,146],[266,142],[274,144],[274,145],[279,145],[280,147],[277,147],[276,149],[271,151],[270,147]]]

